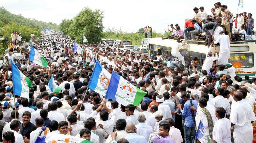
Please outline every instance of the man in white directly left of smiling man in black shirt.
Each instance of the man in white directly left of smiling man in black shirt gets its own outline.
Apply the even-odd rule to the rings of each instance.
[[[20,121],[13,120],[10,124],[11,132],[14,132],[15,143],[24,143],[23,136],[18,133],[20,129]]]

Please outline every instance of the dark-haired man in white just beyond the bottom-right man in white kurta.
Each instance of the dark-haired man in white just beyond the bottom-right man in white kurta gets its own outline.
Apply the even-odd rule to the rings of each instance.
[[[224,88],[218,87],[217,90],[215,91],[215,95],[217,95],[215,98],[212,100],[215,102],[215,108],[217,107],[222,107],[226,111],[226,118],[229,118],[230,115],[230,103],[229,100],[224,98],[222,95],[224,94]]]

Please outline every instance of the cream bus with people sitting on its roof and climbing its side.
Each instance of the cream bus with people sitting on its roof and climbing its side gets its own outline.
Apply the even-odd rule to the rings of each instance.
[[[182,43],[185,42],[182,48],[187,49],[180,51],[181,55],[184,56],[186,65],[189,65],[186,54],[191,58],[195,58],[197,61],[197,70],[199,75],[202,75],[202,65],[204,63],[206,54],[208,53],[208,46],[204,41],[191,41],[191,40],[182,40]],[[152,38],[149,41],[149,51],[151,59],[160,53],[162,55],[163,61],[168,62],[172,51],[172,46],[176,43],[176,40],[165,39],[162,40],[161,37]],[[211,52],[215,53],[215,49],[219,52],[219,45],[215,45]],[[240,76],[244,79],[245,75],[248,75],[250,79],[256,77],[256,44],[249,44],[248,41],[237,41],[230,43],[230,58],[229,63],[235,67],[235,72],[237,76]],[[218,64],[218,60],[216,61]],[[192,70],[191,70],[192,71]]]

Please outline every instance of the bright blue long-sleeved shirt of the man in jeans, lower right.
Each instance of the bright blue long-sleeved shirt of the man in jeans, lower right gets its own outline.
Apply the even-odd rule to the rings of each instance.
[[[192,100],[192,104],[195,108],[197,108],[197,101]],[[184,126],[187,126],[189,128],[195,127],[195,123],[192,117],[192,112],[190,109],[190,100],[187,100],[184,104],[183,110],[181,111],[182,117],[185,119]],[[196,116],[196,111],[194,111],[194,115]]]

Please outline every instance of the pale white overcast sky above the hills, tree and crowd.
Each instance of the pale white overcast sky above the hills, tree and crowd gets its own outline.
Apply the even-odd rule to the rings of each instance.
[[[235,14],[238,0],[219,0]],[[193,17],[193,8],[203,6],[211,14],[214,0],[0,0],[0,6],[14,14],[60,24],[62,19],[72,19],[84,7],[101,9],[105,29],[122,29],[136,32],[147,25],[163,33],[170,24],[184,27],[184,19]],[[255,0],[244,0],[238,12],[256,15]],[[252,16],[252,17],[253,17]]]

